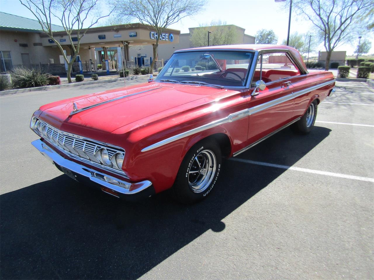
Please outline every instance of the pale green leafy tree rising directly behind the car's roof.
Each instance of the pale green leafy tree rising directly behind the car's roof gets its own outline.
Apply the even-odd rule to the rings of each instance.
[[[226,21],[212,21],[210,24],[202,24],[200,27],[191,28],[190,42],[193,47],[208,46],[208,32],[209,46],[221,46],[239,44],[239,36],[234,30],[233,25],[227,25]]]

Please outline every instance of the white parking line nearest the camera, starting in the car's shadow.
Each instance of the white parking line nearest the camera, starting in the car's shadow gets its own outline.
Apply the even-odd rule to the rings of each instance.
[[[245,162],[245,163],[249,163],[249,164],[263,165],[263,166],[268,166],[268,167],[289,169],[289,170],[294,170],[294,171],[301,171],[301,172],[307,172],[307,173],[313,173],[313,174],[319,174],[319,175],[327,175],[327,176],[333,176],[333,177],[346,178],[346,179],[352,179],[352,180],[359,180],[359,181],[366,181],[366,182],[373,182],[374,183],[374,178],[369,178],[369,177],[347,175],[347,174],[321,171],[321,170],[315,170],[315,169],[300,168],[300,167],[293,167],[293,166],[287,166],[287,165],[270,164],[270,163],[267,163],[267,162],[251,161],[249,159],[241,159],[241,158],[230,158],[230,160],[231,161]]]

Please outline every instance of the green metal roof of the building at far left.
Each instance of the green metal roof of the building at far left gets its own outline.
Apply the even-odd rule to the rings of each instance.
[[[64,27],[52,24],[52,31],[64,31]],[[0,29],[40,32],[42,27],[39,21],[35,19],[24,18],[23,16],[11,15],[10,13],[0,12]]]

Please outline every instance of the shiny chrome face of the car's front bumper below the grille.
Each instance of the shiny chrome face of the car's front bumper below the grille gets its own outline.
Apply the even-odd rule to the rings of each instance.
[[[58,153],[56,153],[52,148],[50,148],[46,143],[44,143],[40,139],[31,142],[31,144],[34,147],[36,147],[36,149],[38,149],[39,152],[42,153],[42,155],[46,156],[46,158],[49,159],[49,161],[51,161],[53,164],[58,164],[60,167],[64,167],[77,174],[83,175],[89,178],[91,181],[103,187],[106,187],[118,194],[117,196],[117,195],[114,195],[113,193],[109,193],[111,195],[114,195],[117,197],[126,197],[128,195],[134,195],[136,193],[140,193],[152,185],[151,181],[148,181],[148,180],[137,182],[137,183],[129,183],[129,182],[120,180],[118,178],[111,177],[107,174],[100,173],[94,169],[87,168],[83,165],[77,164],[76,162],[69,161],[68,159],[63,158]],[[123,184],[124,187],[120,187],[120,186],[117,186],[115,184],[105,181],[104,176],[106,178],[115,180],[119,182],[120,184]],[[129,190],[131,187],[134,190]],[[105,190],[103,191],[105,192]]]

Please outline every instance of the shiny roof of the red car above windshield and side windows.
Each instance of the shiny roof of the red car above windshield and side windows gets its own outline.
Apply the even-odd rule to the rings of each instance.
[[[183,50],[176,50],[174,53],[198,51],[198,50],[254,50],[254,51],[266,51],[266,50],[284,50],[289,51],[297,59],[298,64],[301,66],[304,72],[307,71],[303,57],[293,47],[285,45],[269,45],[269,44],[241,44],[241,45],[226,45],[226,46],[209,46],[209,47],[197,47]]]

